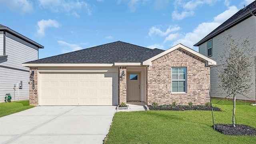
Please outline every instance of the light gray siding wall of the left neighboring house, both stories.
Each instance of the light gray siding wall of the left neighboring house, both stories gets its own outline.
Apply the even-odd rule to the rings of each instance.
[[[0,102],[4,102],[5,94],[11,94],[14,101],[14,89],[16,84],[22,81],[20,89],[20,100],[29,98],[29,68],[23,67],[22,63],[37,60],[38,49],[35,46],[16,38],[6,32],[6,55],[7,61],[0,63]],[[18,100],[18,89],[15,92],[15,100]]]

